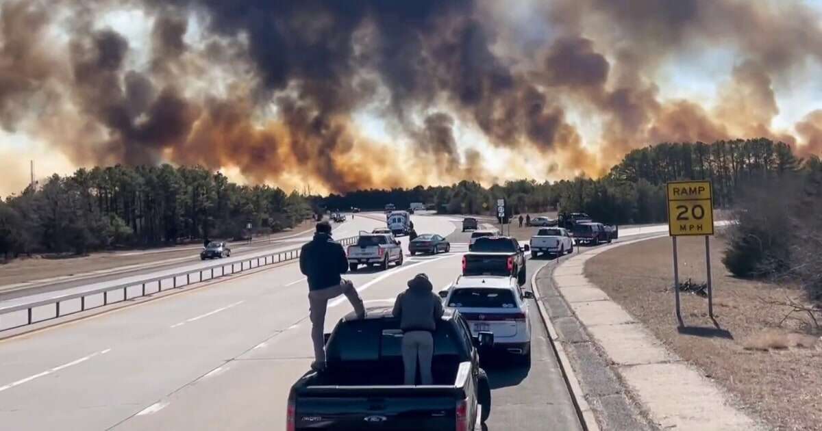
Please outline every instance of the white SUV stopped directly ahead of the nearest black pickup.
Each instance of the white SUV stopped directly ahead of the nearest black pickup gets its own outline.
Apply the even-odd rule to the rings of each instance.
[[[459,276],[440,292],[447,308],[459,310],[471,334],[493,332],[494,348],[531,361],[531,321],[528,299],[514,277]]]

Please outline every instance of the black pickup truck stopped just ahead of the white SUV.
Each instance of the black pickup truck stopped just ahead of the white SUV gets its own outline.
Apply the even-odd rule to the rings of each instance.
[[[529,245],[509,236],[483,236],[463,255],[463,275],[506,275],[525,284],[525,252]]]

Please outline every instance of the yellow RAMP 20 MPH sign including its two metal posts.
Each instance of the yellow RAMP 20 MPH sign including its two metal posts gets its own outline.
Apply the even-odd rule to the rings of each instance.
[[[673,277],[677,319],[682,324],[679,300],[677,236],[704,236],[708,270],[708,314],[713,319],[711,289],[710,236],[713,235],[713,190],[710,181],[672,181],[667,183],[668,233],[673,242]]]

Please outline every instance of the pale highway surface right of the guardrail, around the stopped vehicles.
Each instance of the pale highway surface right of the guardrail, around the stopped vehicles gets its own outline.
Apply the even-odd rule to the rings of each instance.
[[[452,252],[348,277],[364,300],[393,300],[419,272],[445,287],[468,242],[458,222],[415,216],[418,232],[450,235]],[[530,261],[529,279],[545,263]],[[287,264],[2,341],[0,428],[284,429],[289,387],[312,360],[306,296]],[[349,310],[332,301],[326,330]],[[487,365],[487,429],[580,429],[533,302],[531,319],[530,368]]]

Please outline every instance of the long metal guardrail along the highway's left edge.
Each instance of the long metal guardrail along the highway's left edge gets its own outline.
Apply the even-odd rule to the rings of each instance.
[[[344,246],[345,245],[352,245],[352,244],[357,243],[358,238],[359,238],[359,236],[349,236],[348,238],[343,238],[343,239],[341,239],[337,242],[339,242],[340,245],[344,245]],[[235,273],[242,273],[242,271],[245,271],[245,270],[248,270],[248,269],[260,268],[260,267],[263,267],[263,266],[266,266],[266,265],[273,265],[273,264],[279,264],[279,263],[282,263],[282,262],[288,262],[289,260],[298,259],[300,257],[300,251],[301,251],[300,248],[295,248],[295,249],[290,249],[290,250],[283,250],[283,251],[279,251],[279,252],[276,252],[276,253],[258,255],[258,256],[255,256],[253,258],[243,259],[243,260],[240,260],[240,261],[234,261],[234,262],[229,262],[229,263],[225,263],[225,264],[216,264],[216,265],[212,265],[212,266],[205,267],[205,268],[198,268],[198,269],[193,269],[191,271],[184,271],[182,273],[173,273],[173,274],[168,274],[168,275],[159,276],[159,277],[145,278],[143,280],[137,280],[135,282],[127,282],[127,283],[122,283],[122,284],[118,284],[118,285],[115,285],[115,286],[101,287],[99,289],[94,289],[94,290],[91,290],[91,291],[81,291],[81,292],[71,293],[71,294],[62,295],[62,296],[54,296],[53,298],[49,298],[47,300],[37,300],[37,301],[25,303],[25,304],[19,304],[19,305],[12,305],[12,306],[9,306],[9,307],[3,307],[3,308],[0,308],[0,318],[2,318],[3,315],[16,313],[16,312],[22,311],[22,310],[27,310],[27,319],[25,320],[26,323],[22,323],[22,324],[12,326],[12,327],[9,327],[9,328],[2,328],[2,326],[0,326],[0,332],[7,331],[7,330],[10,330],[10,329],[14,329],[14,328],[21,328],[23,326],[27,326],[27,325],[30,325],[32,323],[39,323],[39,322],[44,322],[46,320],[57,319],[59,317],[64,317],[64,316],[68,316],[68,315],[71,315],[71,314],[80,313],[82,311],[86,311],[86,310],[89,310],[89,309],[96,309],[96,308],[99,308],[99,307],[104,307],[106,305],[116,304],[118,302],[124,302],[126,300],[132,300],[134,298],[140,298],[140,297],[147,296],[147,295],[154,295],[154,294],[159,293],[161,291],[168,291],[169,289],[178,289],[180,287],[186,287],[186,286],[198,283],[198,282],[207,282],[207,281],[210,281],[210,280],[215,280],[216,278],[219,278],[219,277],[224,277],[224,276],[232,275],[232,274],[235,274]],[[246,266],[246,264],[247,264],[247,266]],[[226,273],[226,268],[228,268],[229,266],[231,267],[231,272]],[[239,266],[239,269],[237,269],[238,266]],[[215,269],[217,269],[217,268],[219,268],[219,273],[215,273]],[[204,278],[203,276],[204,276],[205,273],[208,273],[209,277]],[[196,279],[192,279],[193,274],[197,274]],[[184,283],[178,282],[178,278],[180,278],[180,277],[185,277],[185,282]],[[172,281],[171,282],[172,286],[171,287],[166,287],[164,289],[163,288],[163,282],[167,281],[167,280]],[[155,283],[156,283],[155,289],[151,289],[151,287],[152,287],[151,285],[155,284]],[[141,289],[139,291],[139,294],[132,294],[131,296],[129,296],[129,288],[130,287],[131,288],[141,287]],[[122,299],[109,301],[109,292],[113,292],[113,291],[122,291]],[[102,304],[86,307],[86,304],[85,304],[86,300],[85,299],[87,297],[100,295],[100,294],[103,295],[103,303]],[[80,309],[76,309],[74,311],[70,311],[70,312],[63,313],[63,314],[60,313],[60,304],[62,302],[66,302],[67,300],[76,300],[78,298],[80,299]],[[51,317],[35,320],[34,316],[33,316],[33,310],[37,309],[39,307],[44,307],[46,305],[54,305],[54,315],[51,316]],[[0,319],[0,320],[2,320],[2,319]],[[2,323],[2,322],[0,322],[0,323]]]

